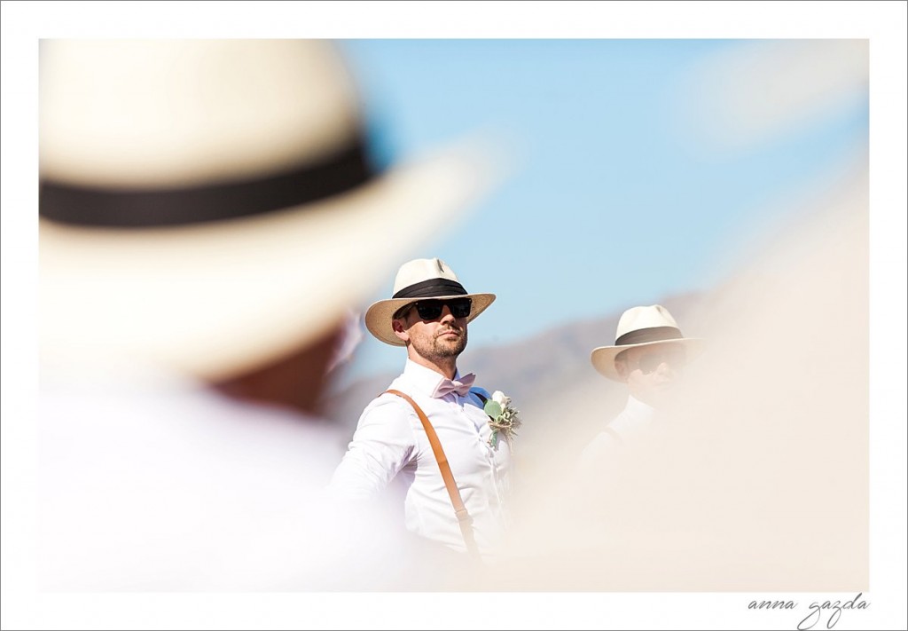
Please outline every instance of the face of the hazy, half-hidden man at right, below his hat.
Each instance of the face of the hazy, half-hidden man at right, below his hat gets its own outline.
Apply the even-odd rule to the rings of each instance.
[[[615,368],[630,394],[658,407],[676,385],[686,362],[684,346],[656,344],[628,348],[615,359]]]

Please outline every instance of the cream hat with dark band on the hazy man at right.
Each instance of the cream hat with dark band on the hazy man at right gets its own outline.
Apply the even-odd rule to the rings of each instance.
[[[702,350],[703,340],[683,336],[675,318],[662,305],[634,306],[618,319],[615,346],[594,348],[590,361],[601,375],[621,381],[615,368],[615,357],[619,353],[635,346],[656,346],[666,342],[683,344],[688,353],[696,354]]]

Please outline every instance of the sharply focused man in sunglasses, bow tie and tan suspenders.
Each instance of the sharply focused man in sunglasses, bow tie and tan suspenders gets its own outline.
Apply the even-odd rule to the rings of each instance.
[[[457,367],[469,322],[494,300],[469,293],[439,258],[400,266],[393,295],[365,320],[381,342],[406,347],[406,365],[363,411],[330,486],[366,499],[393,480],[411,533],[473,556],[492,553],[503,530],[516,426],[497,429],[486,413],[494,401]],[[499,402],[508,416],[508,399]]]

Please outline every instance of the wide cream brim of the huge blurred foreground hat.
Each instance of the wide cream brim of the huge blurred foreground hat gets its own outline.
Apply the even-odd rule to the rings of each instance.
[[[490,184],[476,149],[401,165],[318,203],[212,224],[41,220],[42,361],[102,366],[125,356],[218,379],[290,354]]]

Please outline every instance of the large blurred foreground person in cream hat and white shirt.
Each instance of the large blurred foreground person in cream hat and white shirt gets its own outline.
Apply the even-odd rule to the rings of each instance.
[[[401,248],[447,225],[479,156],[376,173],[323,41],[44,40],[39,71],[40,584],[396,585],[319,502],[316,403],[388,215]]]

